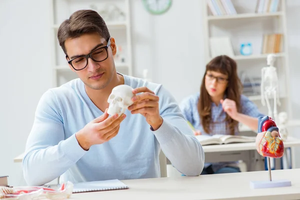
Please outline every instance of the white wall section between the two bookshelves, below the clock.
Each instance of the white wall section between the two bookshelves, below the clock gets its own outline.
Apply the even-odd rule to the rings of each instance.
[[[173,0],[162,15],[151,15],[141,0],[132,0],[134,74],[149,69],[178,101],[198,91],[204,72],[200,0]]]

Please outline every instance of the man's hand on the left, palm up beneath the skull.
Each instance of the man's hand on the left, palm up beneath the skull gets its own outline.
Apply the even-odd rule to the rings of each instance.
[[[101,116],[90,121],[75,133],[79,145],[84,150],[88,150],[93,144],[104,143],[117,134],[120,123],[126,115],[118,116],[118,114],[114,114],[108,117],[109,114],[106,111],[107,109]]]

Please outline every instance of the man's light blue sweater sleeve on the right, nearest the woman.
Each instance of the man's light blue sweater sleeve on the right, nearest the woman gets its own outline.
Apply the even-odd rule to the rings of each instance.
[[[165,156],[172,165],[185,175],[199,175],[204,166],[204,151],[193,136],[173,96],[162,86],[159,96],[161,126],[153,131]]]

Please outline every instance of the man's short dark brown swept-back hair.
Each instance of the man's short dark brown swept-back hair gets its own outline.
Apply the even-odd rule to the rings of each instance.
[[[81,9],[73,12],[58,28],[57,38],[59,45],[66,54],[64,42],[68,38],[76,38],[85,33],[97,32],[108,41],[109,31],[103,18],[98,12],[91,9]]]

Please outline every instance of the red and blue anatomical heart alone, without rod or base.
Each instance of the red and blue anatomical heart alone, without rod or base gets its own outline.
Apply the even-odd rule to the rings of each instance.
[[[257,151],[264,157],[279,158],[283,156],[284,146],[275,121],[269,116],[258,118],[258,132],[266,131],[259,142]],[[276,131],[273,132],[272,131]]]

